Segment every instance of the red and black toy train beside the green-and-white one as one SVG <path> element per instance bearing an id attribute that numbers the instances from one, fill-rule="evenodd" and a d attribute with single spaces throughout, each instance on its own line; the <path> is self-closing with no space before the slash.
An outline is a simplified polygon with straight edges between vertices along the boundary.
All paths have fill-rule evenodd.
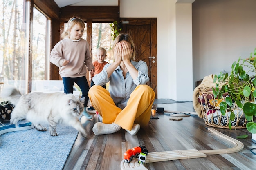
<path id="1" fill-rule="evenodd" d="M 141 145 L 141 146 L 136 146 L 132 149 L 128 149 L 124 153 L 124 161 L 129 163 L 130 161 L 132 161 L 132 157 L 138 158 L 140 153 L 144 153 L 148 155 L 148 150 L 146 146 Z"/>

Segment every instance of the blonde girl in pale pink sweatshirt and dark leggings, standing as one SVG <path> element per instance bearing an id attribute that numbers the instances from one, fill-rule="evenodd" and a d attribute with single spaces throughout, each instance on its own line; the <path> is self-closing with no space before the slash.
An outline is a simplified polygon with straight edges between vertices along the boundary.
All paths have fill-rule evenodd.
<path id="1" fill-rule="evenodd" d="M 73 93 L 76 83 L 85 97 L 83 115 L 87 119 L 92 116 L 86 111 L 89 100 L 89 85 L 86 79 L 86 67 L 91 74 L 94 73 L 94 65 L 90 56 L 89 43 L 82 38 L 85 31 L 85 23 L 77 17 L 68 21 L 68 28 L 61 34 L 63 40 L 59 41 L 51 51 L 50 62 L 59 67 L 59 74 L 63 79 L 64 93 Z"/>

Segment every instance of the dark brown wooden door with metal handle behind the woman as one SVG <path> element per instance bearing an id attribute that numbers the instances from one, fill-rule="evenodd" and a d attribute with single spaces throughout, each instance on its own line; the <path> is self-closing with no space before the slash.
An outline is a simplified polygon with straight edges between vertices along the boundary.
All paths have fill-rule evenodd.
<path id="1" fill-rule="evenodd" d="M 135 61 L 148 65 L 149 82 L 157 98 L 157 18 L 121 18 L 121 33 L 129 33 L 135 44 Z"/>

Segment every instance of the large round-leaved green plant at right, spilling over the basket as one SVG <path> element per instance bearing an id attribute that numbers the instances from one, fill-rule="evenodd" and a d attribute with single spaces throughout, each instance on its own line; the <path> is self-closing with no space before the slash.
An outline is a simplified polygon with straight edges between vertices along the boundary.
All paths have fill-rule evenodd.
<path id="1" fill-rule="evenodd" d="M 225 101 L 220 103 L 220 111 L 223 116 L 226 115 L 227 109 L 237 106 L 245 114 L 247 120 L 246 128 L 254 136 L 256 135 L 256 49 L 250 54 L 249 58 L 241 59 L 234 62 L 231 66 L 231 73 L 215 75 L 213 82 L 216 87 L 213 88 L 215 98 L 222 98 L 224 93 L 228 93 Z M 222 86 L 220 85 L 222 84 Z M 225 85 L 223 85 L 225 84 Z M 231 121 L 234 120 L 235 114 L 231 111 L 229 119 L 229 128 Z M 255 136 L 256 137 L 256 136 Z M 253 138 L 253 137 L 252 137 Z M 256 142 L 256 139 L 253 139 Z"/>

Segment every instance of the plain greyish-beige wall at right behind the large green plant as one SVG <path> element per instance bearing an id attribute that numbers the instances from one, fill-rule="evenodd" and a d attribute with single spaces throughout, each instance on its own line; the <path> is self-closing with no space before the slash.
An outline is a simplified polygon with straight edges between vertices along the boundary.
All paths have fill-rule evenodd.
<path id="1" fill-rule="evenodd" d="M 256 47 L 256 0 L 196 0 L 193 16 L 193 82 L 247 58 Z"/>

